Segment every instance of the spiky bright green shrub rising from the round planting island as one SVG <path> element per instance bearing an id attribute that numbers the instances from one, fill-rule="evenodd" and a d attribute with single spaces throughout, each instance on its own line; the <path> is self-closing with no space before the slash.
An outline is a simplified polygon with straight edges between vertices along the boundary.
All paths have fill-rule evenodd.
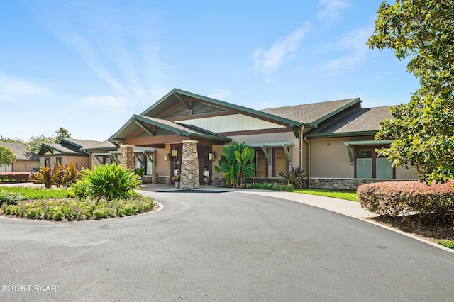
<path id="1" fill-rule="evenodd" d="M 85 186 L 88 196 L 112 200 L 135 196 L 136 193 L 133 189 L 136 189 L 139 184 L 138 175 L 126 167 L 114 163 L 95 166 L 92 170 L 84 170 L 76 186 Z M 77 190 L 83 192 L 82 187 Z"/>

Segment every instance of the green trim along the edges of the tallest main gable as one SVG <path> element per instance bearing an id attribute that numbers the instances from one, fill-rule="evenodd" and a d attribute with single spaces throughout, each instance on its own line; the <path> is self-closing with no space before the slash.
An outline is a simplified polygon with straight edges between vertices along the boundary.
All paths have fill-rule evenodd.
<path id="1" fill-rule="evenodd" d="M 262 111 L 258 111 L 258 110 L 255 110 L 255 109 L 251 109 L 251 108 L 240 106 L 240 105 L 236 105 L 236 104 L 231 104 L 231 103 L 228 103 L 226 101 L 220 101 L 218 99 L 212 99 L 212 98 L 210 98 L 208 96 L 201 96 L 200 94 L 194 94 L 192 92 L 184 91 L 184 90 L 176 89 L 176 88 L 172 89 L 172 91 L 170 91 L 168 94 L 163 96 L 159 101 L 157 101 L 155 104 L 153 104 L 148 109 L 143 111 L 143 113 L 141 113 L 140 115 L 141 116 L 145 116 L 147 113 L 152 111 L 153 108 L 155 108 L 156 106 L 161 104 L 163 101 L 165 101 L 165 99 L 167 99 L 172 94 L 175 94 L 175 96 L 177 96 L 177 94 L 182 94 L 184 96 L 189 96 L 189 97 L 192 97 L 194 99 L 200 99 L 201 101 L 207 101 L 207 102 L 210 102 L 210 103 L 213 103 L 213 104 L 216 104 L 216 105 L 220 105 L 220 106 L 224 106 L 224 107 L 227 107 L 227 108 L 233 108 L 233 109 L 236 109 L 238 111 L 244 111 L 246 113 L 250 113 L 250 114 L 253 114 L 255 116 L 261 116 L 263 118 L 270 118 L 272 120 L 279 121 L 280 123 L 289 124 L 290 127 L 292 127 L 292 125 L 293 125 L 293 126 L 301 128 L 301 126 L 304 125 L 303 123 L 300 123 L 298 121 L 289 120 L 288 118 L 282 118 L 280 116 L 275 116 L 274 114 L 265 113 L 265 112 L 262 112 Z M 179 99 L 178 96 L 177 96 L 177 99 Z"/>

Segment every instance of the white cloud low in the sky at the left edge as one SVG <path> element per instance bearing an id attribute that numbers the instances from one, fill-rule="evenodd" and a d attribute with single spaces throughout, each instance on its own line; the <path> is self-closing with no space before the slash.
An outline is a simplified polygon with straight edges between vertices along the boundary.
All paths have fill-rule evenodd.
<path id="1" fill-rule="evenodd" d="M 46 94 L 49 94 L 49 91 L 38 84 L 0 74 L 0 102 L 21 101 L 31 96 L 43 96 Z"/>

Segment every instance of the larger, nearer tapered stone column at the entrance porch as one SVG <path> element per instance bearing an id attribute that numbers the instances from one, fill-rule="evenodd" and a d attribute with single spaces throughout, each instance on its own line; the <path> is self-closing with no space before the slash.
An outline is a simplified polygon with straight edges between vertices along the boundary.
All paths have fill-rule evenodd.
<path id="1" fill-rule="evenodd" d="M 196 140 L 183 140 L 182 175 L 179 186 L 182 189 L 200 188 L 199 152 Z"/>

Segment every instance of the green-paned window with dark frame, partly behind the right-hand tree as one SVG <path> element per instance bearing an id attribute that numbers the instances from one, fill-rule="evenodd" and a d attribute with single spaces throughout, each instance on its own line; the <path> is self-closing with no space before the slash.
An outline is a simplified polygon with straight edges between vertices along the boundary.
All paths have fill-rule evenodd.
<path id="1" fill-rule="evenodd" d="M 381 157 L 374 147 L 356 147 L 355 149 L 355 177 L 394 179 L 395 169 L 387 157 Z"/>

